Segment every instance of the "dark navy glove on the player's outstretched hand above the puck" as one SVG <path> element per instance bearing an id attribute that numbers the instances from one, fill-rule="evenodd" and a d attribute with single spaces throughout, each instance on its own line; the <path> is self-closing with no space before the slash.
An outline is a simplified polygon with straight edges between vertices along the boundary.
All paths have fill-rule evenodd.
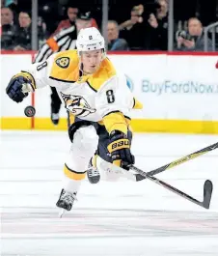
<path id="1" fill-rule="evenodd" d="M 28 93 L 22 92 L 25 84 L 31 84 L 31 80 L 22 75 L 13 77 L 6 88 L 6 93 L 9 98 L 18 103 L 21 102 L 25 97 L 27 97 Z"/>

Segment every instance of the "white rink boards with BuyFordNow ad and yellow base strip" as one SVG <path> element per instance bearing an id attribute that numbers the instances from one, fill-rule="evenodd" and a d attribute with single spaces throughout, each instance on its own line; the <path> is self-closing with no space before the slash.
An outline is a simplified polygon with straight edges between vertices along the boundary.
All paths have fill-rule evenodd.
<path id="1" fill-rule="evenodd" d="M 16 104 L 8 99 L 5 87 L 12 75 L 31 63 L 33 52 L 1 55 L 1 123 L 3 129 L 67 129 L 67 114 L 61 122 L 50 122 L 50 88 Z M 116 52 L 110 54 L 114 65 L 123 71 L 127 86 L 144 104 L 131 113 L 132 127 L 139 132 L 179 132 L 218 134 L 218 60 L 217 53 Z M 35 118 L 28 119 L 26 105 L 36 107 Z"/>

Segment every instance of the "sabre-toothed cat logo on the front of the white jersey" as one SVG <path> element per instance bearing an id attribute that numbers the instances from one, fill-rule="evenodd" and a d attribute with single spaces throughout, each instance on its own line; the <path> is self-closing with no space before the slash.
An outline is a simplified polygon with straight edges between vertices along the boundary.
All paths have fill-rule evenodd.
<path id="1" fill-rule="evenodd" d="M 65 95 L 63 93 L 61 93 L 61 96 L 65 101 L 66 109 L 74 116 L 86 117 L 96 111 L 96 109 L 91 108 L 89 103 L 81 96 Z"/>

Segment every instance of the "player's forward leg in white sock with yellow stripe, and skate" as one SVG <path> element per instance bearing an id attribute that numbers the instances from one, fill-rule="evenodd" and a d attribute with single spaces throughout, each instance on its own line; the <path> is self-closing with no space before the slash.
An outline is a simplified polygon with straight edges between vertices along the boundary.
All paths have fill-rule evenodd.
<path id="1" fill-rule="evenodd" d="M 86 177 L 90 158 L 95 154 L 98 136 L 95 128 L 87 121 L 75 122 L 68 133 L 72 144 L 64 166 L 63 189 L 56 205 L 70 211 Z"/>

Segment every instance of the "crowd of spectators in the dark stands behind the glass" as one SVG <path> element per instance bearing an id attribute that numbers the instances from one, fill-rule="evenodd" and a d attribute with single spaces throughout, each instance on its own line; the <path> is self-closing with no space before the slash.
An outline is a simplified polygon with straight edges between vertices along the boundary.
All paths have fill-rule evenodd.
<path id="1" fill-rule="evenodd" d="M 12 8 L 17 1 L 2 1 L 1 7 L 1 49 L 2 50 L 31 50 L 31 14 L 29 11 L 18 11 Z M 87 18 L 89 13 L 89 18 Z M 44 43 L 52 41 L 59 33 L 75 27 L 76 35 L 79 30 L 87 26 L 101 28 L 91 12 L 81 13 L 79 8 L 68 5 L 68 18 L 61 20 L 52 33 L 47 29 L 46 22 L 39 16 L 38 39 L 39 49 Z M 85 15 L 83 17 L 83 15 Z M 110 16 L 109 16 L 110 18 Z M 177 29 L 177 26 L 175 26 Z M 168 0 L 157 0 L 150 6 L 140 4 L 133 6 L 129 19 L 122 23 L 108 20 L 107 24 L 108 50 L 167 50 L 168 49 Z M 74 35 L 73 35 L 74 40 Z M 208 50 L 212 50 L 212 43 L 207 39 Z M 60 49 L 59 49 L 60 50 Z M 186 26 L 175 31 L 175 50 L 203 51 L 204 27 L 197 17 L 190 17 Z"/>

